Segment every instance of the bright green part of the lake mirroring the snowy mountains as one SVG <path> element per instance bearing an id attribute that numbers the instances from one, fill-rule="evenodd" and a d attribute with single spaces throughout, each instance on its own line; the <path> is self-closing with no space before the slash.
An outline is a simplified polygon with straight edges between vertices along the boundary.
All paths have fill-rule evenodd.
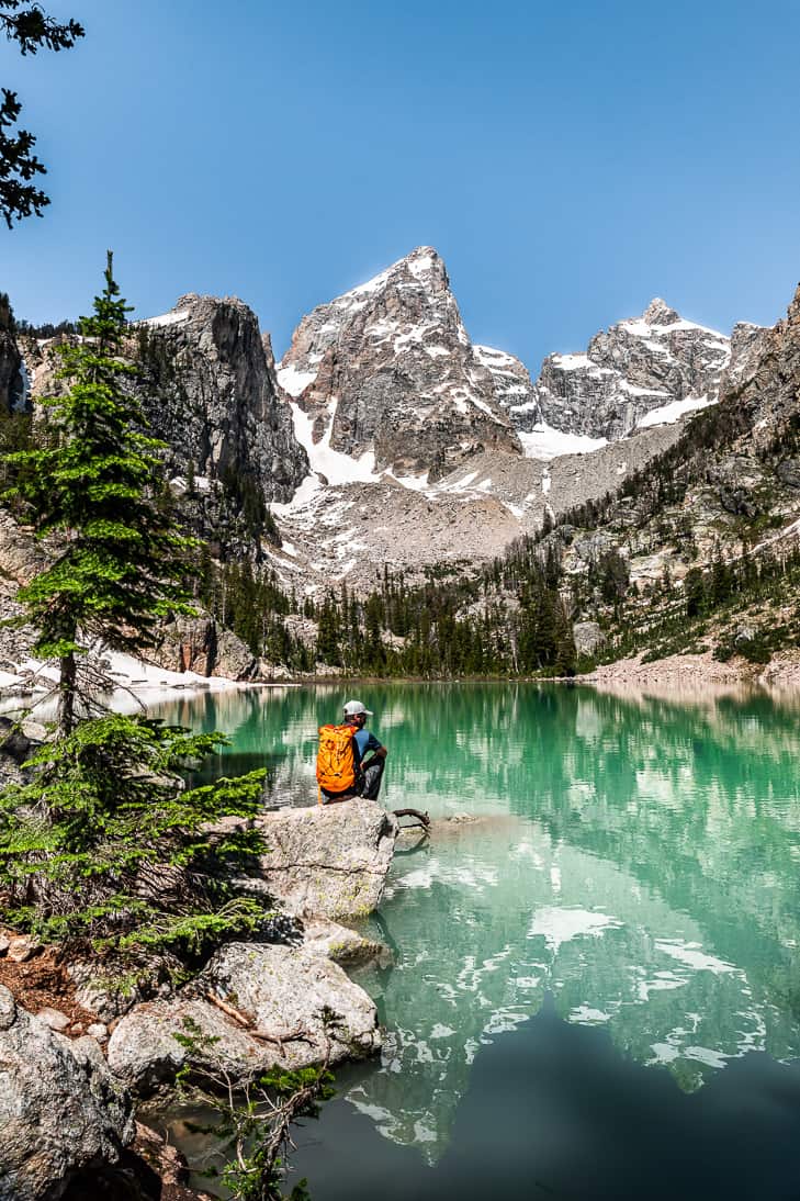
<path id="1" fill-rule="evenodd" d="M 626 1071 L 643 1069 L 637 1087 L 667 1089 L 680 1113 L 705 1112 L 709 1098 L 722 1106 L 766 1056 L 800 1056 L 796 703 L 536 685 L 357 694 L 389 747 L 384 803 L 426 808 L 435 826 L 428 846 L 395 856 L 365 924 L 394 949 L 390 967 L 356 976 L 386 1045 L 380 1062 L 342 1075 L 348 1116 L 338 1101 L 323 1127 L 352 1134 L 363 1121 L 383 1135 L 387 1164 L 399 1143 L 410 1161 L 441 1165 L 465 1098 L 479 1104 L 478 1065 L 529 1029 L 548 994 L 575 1038 L 602 1029 L 609 1056 L 614 1046 Z M 268 802 L 309 803 L 317 725 L 344 699 L 329 686 L 205 694 L 161 712 L 231 731 L 214 771 L 267 763 Z M 449 820 L 465 811 L 480 820 Z M 557 1029 L 562 1045 L 569 1032 Z M 579 1074 L 571 1080 L 578 1104 Z M 675 1098 L 675 1086 L 692 1095 Z M 486 1104 L 488 1125 L 498 1104 Z M 515 1129 L 526 1157 L 529 1134 Z M 360 1147 L 359 1135 L 346 1154 Z"/>

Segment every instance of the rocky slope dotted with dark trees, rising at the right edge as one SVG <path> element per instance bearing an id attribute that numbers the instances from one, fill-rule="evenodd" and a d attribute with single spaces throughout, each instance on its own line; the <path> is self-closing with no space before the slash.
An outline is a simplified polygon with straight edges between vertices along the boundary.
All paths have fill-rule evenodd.
<path id="1" fill-rule="evenodd" d="M 626 621 L 650 659 L 697 644 L 698 653 L 722 649 L 728 662 L 750 646 L 762 656 L 751 663 L 763 665 L 770 650 L 796 647 L 799 539 L 800 288 L 775 327 L 736 325 L 718 405 L 677 428 L 671 446 L 651 458 L 627 495 L 601 506 L 590 528 L 562 526 L 545 543 L 573 580 L 586 581 L 583 619 L 614 629 L 609 596 L 616 604 L 622 593 L 609 573 L 637 586 L 627 593 Z M 602 597 L 592 579 L 604 573 L 610 592 Z M 683 610 L 687 620 L 676 625 Z M 659 640 L 652 631 L 670 615 Z"/>

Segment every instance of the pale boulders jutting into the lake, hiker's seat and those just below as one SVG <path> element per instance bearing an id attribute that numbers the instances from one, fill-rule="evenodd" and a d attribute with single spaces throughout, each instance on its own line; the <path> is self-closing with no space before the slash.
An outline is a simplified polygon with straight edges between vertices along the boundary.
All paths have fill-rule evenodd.
<path id="1" fill-rule="evenodd" d="M 233 943 L 173 996 L 125 1014 L 112 1033 L 108 1063 L 141 1095 L 174 1080 L 186 1057 L 175 1034 L 184 1034 L 186 1023 L 217 1040 L 214 1056 L 238 1080 L 276 1064 L 320 1063 L 328 1039 L 332 1063 L 370 1056 L 381 1046 L 372 1000 L 339 963 L 360 962 L 383 949 L 329 918 L 363 915 L 377 906 L 396 820 L 372 801 L 352 801 L 267 813 L 259 825 L 271 850 L 259 873 L 240 883 L 281 900 L 288 914 L 310 916 L 291 924 L 292 945 Z M 231 1008 L 246 1018 L 246 1027 Z M 326 1009 L 339 1017 L 329 1030 Z"/>

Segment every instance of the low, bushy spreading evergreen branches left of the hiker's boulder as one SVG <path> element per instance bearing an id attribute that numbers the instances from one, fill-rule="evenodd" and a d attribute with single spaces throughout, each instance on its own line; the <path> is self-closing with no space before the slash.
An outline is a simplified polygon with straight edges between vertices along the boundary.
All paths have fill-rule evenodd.
<path id="1" fill-rule="evenodd" d="M 237 892 L 229 867 L 263 838 L 243 826 L 214 839 L 207 827 L 252 818 L 264 772 L 201 788 L 180 775 L 223 742 L 109 715 L 42 747 L 31 782 L 0 794 L 4 922 L 135 960 L 150 949 L 192 958 L 257 930 L 264 907 Z"/>

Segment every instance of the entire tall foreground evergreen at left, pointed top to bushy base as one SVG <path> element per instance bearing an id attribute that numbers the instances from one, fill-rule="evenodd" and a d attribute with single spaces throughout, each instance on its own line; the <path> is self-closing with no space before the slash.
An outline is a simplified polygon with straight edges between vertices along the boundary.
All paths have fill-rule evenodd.
<path id="1" fill-rule="evenodd" d="M 77 668 L 91 640 L 136 651 L 162 614 L 187 610 L 187 543 L 151 498 L 162 444 L 137 432 L 124 388 L 125 311 L 109 255 L 94 316 L 61 348 L 71 387 L 46 401 L 38 447 L 10 456 L 12 495 L 60 548 L 18 593 L 38 628 L 35 651 L 59 659 L 60 703 L 55 743 L 31 760 L 28 783 L 0 793 L 0 902 L 16 930 L 137 964 L 168 950 L 191 968 L 265 916 L 232 872 L 265 849 L 262 837 L 245 826 L 209 832 L 223 815 L 256 814 L 264 772 L 187 788 L 187 764 L 221 735 L 119 715 L 79 721 Z"/>

